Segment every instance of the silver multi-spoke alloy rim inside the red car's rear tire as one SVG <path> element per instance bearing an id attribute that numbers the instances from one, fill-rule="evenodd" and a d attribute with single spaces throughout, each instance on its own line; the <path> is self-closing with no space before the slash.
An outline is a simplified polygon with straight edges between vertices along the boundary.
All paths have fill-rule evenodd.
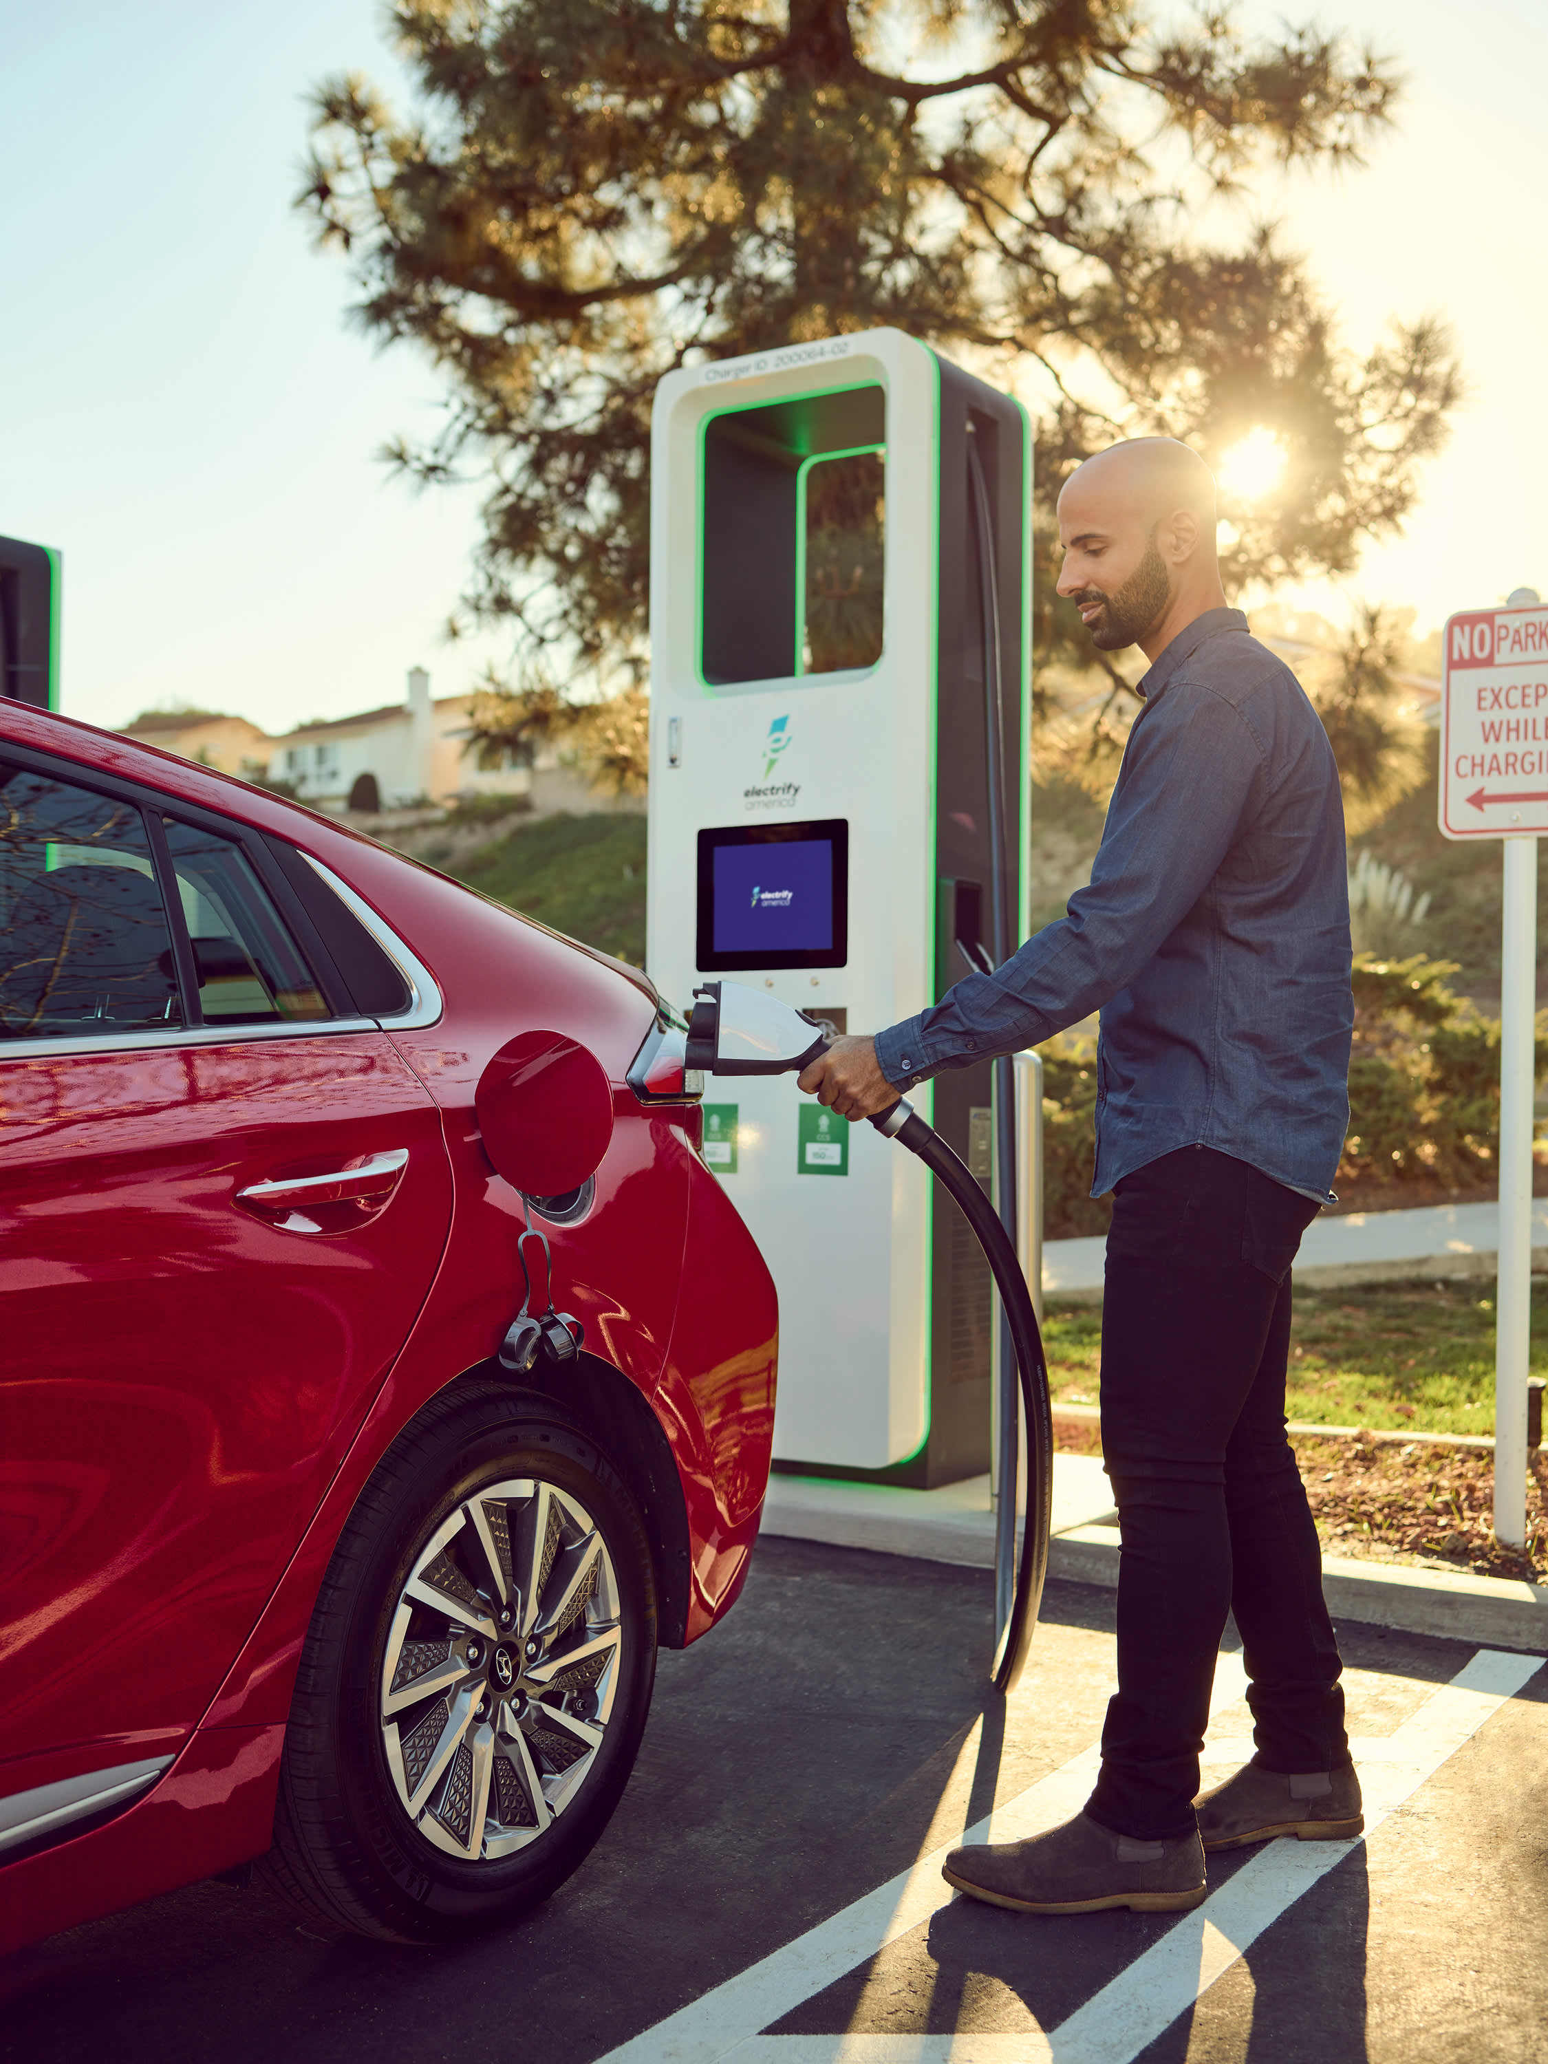
<path id="1" fill-rule="evenodd" d="M 398 1804 L 462 1862 L 537 1841 L 596 1765 L 619 1587 L 584 1505 L 543 1478 L 477 1490 L 415 1550 L 382 1657 Z"/>

